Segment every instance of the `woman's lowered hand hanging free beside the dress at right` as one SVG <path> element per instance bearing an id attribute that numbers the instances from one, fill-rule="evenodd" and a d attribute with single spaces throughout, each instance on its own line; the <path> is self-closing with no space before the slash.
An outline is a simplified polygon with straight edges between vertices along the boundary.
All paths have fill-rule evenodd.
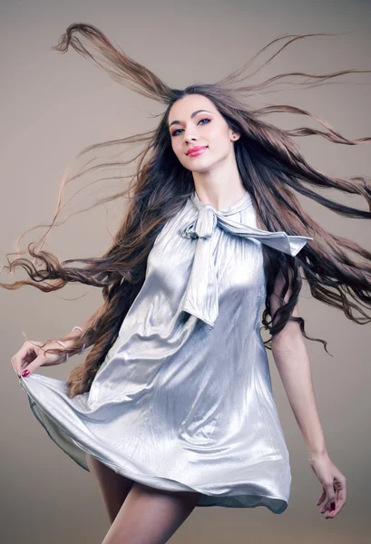
<path id="1" fill-rule="evenodd" d="M 317 479 L 322 483 L 322 493 L 317 500 L 317 506 L 326 500 L 319 511 L 321 514 L 327 512 L 327 519 L 335 518 L 347 501 L 346 477 L 338 470 L 327 453 L 310 455 L 309 464 Z M 333 510 L 331 504 L 334 506 Z"/>

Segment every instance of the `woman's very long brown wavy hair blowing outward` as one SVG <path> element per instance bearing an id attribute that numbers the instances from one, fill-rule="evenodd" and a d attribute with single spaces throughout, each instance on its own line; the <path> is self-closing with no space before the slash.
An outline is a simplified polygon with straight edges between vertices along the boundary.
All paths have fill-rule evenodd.
<path id="1" fill-rule="evenodd" d="M 80 37 L 79 37 L 80 34 Z M 262 315 L 262 325 L 270 333 L 264 344 L 271 349 L 271 339 L 288 323 L 294 320 L 299 323 L 302 335 L 310 340 L 304 328 L 302 317 L 292 316 L 294 306 L 298 302 L 302 287 L 303 272 L 308 281 L 312 296 L 327 305 L 343 310 L 348 319 L 357 324 L 371 321 L 366 309 L 371 306 L 371 253 L 356 242 L 336 236 L 321 228 L 309 217 L 300 206 L 296 192 L 317 201 L 327 209 L 348 218 L 371 219 L 371 183 L 370 178 L 353 177 L 350 179 L 334 178 L 315 169 L 308 164 L 299 151 L 293 137 L 317 135 L 328 141 L 343 145 L 358 145 L 371 141 L 371 138 L 347 140 L 327 121 L 310 112 L 290 105 L 268 105 L 252 110 L 248 108 L 239 95 L 276 92 L 278 83 L 288 83 L 294 77 L 296 84 L 302 88 L 310 88 L 326 84 L 327 80 L 346 73 L 369 73 L 370 70 L 344 70 L 337 73 L 321 75 L 292 72 L 281 73 L 260 83 L 250 83 L 251 77 L 271 63 L 273 59 L 288 45 L 308 36 L 331 34 L 283 35 L 263 47 L 248 63 L 217 83 L 193 84 L 184 90 L 172 89 L 159 77 L 142 64 L 115 47 L 107 37 L 92 24 L 71 24 L 62 34 L 57 45 L 53 47 L 66 53 L 71 45 L 75 51 L 90 58 L 112 79 L 122 83 L 143 96 L 165 104 L 165 112 L 155 130 L 135 134 L 115 141 L 106 141 L 85 148 L 77 158 L 100 148 L 109 149 L 139 143 L 142 151 L 132 160 L 112 162 L 114 167 L 126 167 L 133 160 L 138 160 L 131 181 L 123 189 L 104 201 L 124 198 L 128 204 L 123 213 L 122 223 L 113 237 L 112 246 L 102 257 L 68 259 L 60 262 L 52 253 L 42 250 L 44 238 L 54 226 L 62 209 L 62 195 L 67 183 L 77 179 L 69 175 L 63 176 L 58 195 L 54 219 L 44 237 L 28 245 L 28 252 L 33 260 L 18 257 L 13 262 L 8 260 L 9 271 L 15 267 L 23 267 L 30 280 L 15 281 L 13 284 L 0 284 L 7 289 L 18 289 L 24 285 L 37 287 L 44 292 L 61 289 L 69 282 L 79 282 L 93 287 L 102 287 L 103 305 L 93 315 L 90 325 L 83 335 L 76 340 L 73 348 L 64 352 L 76 353 L 89 339 L 92 351 L 86 356 L 83 364 L 76 366 L 67 378 L 67 393 L 70 398 L 76 394 L 90 390 L 94 375 L 97 373 L 113 342 L 116 340 L 122 321 L 132 302 L 141 290 L 144 282 L 147 257 L 155 238 L 164 224 L 177 214 L 185 205 L 191 192 L 195 189 L 192 173 L 185 169 L 171 149 L 171 137 L 168 128 L 168 116 L 174 102 L 188 94 L 201 94 L 208 97 L 223 116 L 229 127 L 240 133 L 234 142 L 234 150 L 242 183 L 249 191 L 252 203 L 257 212 L 259 228 L 270 231 L 285 231 L 288 235 L 308 236 L 313 238 L 296 257 L 268 248 L 264 244 L 264 269 L 267 282 L 267 297 Z M 91 53 L 87 45 L 95 48 Z M 251 63 L 260 53 L 275 47 L 268 61 L 254 72 L 247 73 Z M 99 54 L 101 53 L 101 58 Z M 269 53 L 270 54 L 270 53 Z M 306 78 L 306 79 L 304 79 Z M 249 79 L 249 84 L 244 82 Z M 309 83 L 308 83 L 309 82 Z M 245 83 L 239 86 L 239 83 Z M 263 121 L 269 113 L 293 113 L 305 115 L 317 121 L 321 129 L 301 127 L 294 130 L 283 130 Z M 88 163 L 89 164 L 89 163 Z M 103 163 L 89 170 L 106 168 Z M 122 183 L 123 177 L 119 177 Z M 122 184 L 123 185 L 123 184 Z M 316 192 L 316 188 L 331 188 L 349 194 L 364 197 L 367 211 L 352 208 L 325 198 Z M 98 202 L 99 204 L 100 202 Z M 38 226 L 39 227 L 39 226 Z M 27 231 L 26 231 L 27 232 Z M 25 234 L 25 233 L 24 233 Z M 19 240 L 24 236 L 18 238 Z M 364 260 L 353 260 L 347 250 L 353 251 Z M 18 249 L 18 255 L 24 253 Z M 6 257 L 14 254 L 7 254 Z M 74 263 L 74 266 L 71 266 Z M 269 297 L 275 288 L 278 272 L 284 281 L 279 293 L 280 307 L 271 316 Z M 285 303 L 285 295 L 289 293 Z M 354 310 L 360 313 L 355 316 Z M 273 321 L 274 318 L 274 321 Z M 59 353 L 59 348 L 48 349 L 50 353 Z M 327 350 L 326 350 L 327 351 Z M 328 352 L 327 352 L 328 353 Z"/>

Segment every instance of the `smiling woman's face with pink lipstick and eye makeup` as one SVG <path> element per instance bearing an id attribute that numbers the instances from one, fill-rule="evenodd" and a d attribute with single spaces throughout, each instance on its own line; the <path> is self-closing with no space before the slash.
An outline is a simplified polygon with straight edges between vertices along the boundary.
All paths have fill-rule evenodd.
<path id="1" fill-rule="evenodd" d="M 171 146 L 181 164 L 191 171 L 207 171 L 230 153 L 239 134 L 229 128 L 213 102 L 201 94 L 188 94 L 171 107 L 169 113 Z M 195 147 L 200 154 L 187 154 Z"/>

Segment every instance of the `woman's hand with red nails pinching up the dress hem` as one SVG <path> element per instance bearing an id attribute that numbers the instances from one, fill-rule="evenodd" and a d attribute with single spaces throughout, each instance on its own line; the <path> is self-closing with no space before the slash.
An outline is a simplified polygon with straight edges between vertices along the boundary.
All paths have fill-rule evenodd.
<path id="1" fill-rule="evenodd" d="M 44 342 L 26 340 L 21 349 L 11 359 L 18 378 L 21 377 L 21 374 L 24 377 L 32 374 L 39 366 L 54 366 L 64 363 L 66 355 L 63 352 L 59 354 L 44 353 L 44 350 L 52 347 L 62 349 L 63 346 L 56 341 L 49 341 L 44 344 Z M 23 373 L 26 370 L 29 372 L 24 375 Z"/>

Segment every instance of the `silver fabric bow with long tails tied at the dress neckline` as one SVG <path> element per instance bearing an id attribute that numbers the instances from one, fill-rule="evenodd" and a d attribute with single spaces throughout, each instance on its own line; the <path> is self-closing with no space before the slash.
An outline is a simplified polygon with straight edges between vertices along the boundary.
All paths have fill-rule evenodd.
<path id="1" fill-rule="evenodd" d="M 261 230 L 228 219 L 228 216 L 252 205 L 249 192 L 238 205 L 226 210 L 217 210 L 203 204 L 196 191 L 190 195 L 197 209 L 196 215 L 179 230 L 184 238 L 197 238 L 190 278 L 181 300 L 181 310 L 198 317 L 212 328 L 219 314 L 218 282 L 212 257 L 211 237 L 217 225 L 223 230 L 242 238 L 254 238 L 270 248 L 295 256 L 308 240 L 307 236 L 288 236 L 286 232 Z"/>

